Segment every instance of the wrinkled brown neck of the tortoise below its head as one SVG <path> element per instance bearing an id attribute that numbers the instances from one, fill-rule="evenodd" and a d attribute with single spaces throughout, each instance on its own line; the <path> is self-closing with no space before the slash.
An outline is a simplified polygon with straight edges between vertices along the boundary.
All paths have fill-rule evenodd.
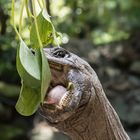
<path id="1" fill-rule="evenodd" d="M 104 92 L 95 93 L 60 130 L 72 140 L 130 140 Z"/>

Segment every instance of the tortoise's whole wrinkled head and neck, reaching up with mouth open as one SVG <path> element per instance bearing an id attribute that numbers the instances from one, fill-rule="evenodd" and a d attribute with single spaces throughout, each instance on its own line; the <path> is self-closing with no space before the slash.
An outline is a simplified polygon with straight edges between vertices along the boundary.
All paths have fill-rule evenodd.
<path id="1" fill-rule="evenodd" d="M 129 140 L 90 65 L 63 48 L 44 52 L 52 73 L 40 111 L 47 122 L 73 140 Z"/>

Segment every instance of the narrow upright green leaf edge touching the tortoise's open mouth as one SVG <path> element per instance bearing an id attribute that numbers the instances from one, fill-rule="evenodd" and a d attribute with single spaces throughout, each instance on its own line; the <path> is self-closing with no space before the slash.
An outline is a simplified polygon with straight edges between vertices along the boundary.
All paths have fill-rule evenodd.
<path id="1" fill-rule="evenodd" d="M 46 91 L 49 87 L 51 81 L 51 72 L 49 68 L 49 64 L 43 48 L 40 48 L 41 59 L 42 59 L 42 73 L 41 73 L 41 102 L 43 102 L 44 97 L 46 95 Z"/>

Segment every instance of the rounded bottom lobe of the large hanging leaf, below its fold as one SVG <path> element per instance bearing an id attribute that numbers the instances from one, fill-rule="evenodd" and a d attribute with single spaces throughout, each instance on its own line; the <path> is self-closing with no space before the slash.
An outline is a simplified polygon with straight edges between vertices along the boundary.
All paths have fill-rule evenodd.
<path id="1" fill-rule="evenodd" d="M 28 87 L 22 83 L 19 99 L 16 103 L 16 110 L 24 116 L 30 116 L 40 105 L 40 91 Z"/>

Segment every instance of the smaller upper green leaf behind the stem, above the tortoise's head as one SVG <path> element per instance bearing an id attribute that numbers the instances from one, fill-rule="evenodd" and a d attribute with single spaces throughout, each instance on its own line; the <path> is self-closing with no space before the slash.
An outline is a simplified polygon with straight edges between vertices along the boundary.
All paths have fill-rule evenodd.
<path id="1" fill-rule="evenodd" d="M 45 10 L 41 11 L 37 16 L 37 25 L 39 30 L 39 35 L 43 46 L 48 45 L 53 42 L 54 39 L 54 28 L 50 21 L 50 17 Z M 30 41 L 33 48 L 39 46 L 37 33 L 35 29 L 35 23 L 32 24 L 30 30 Z"/>

